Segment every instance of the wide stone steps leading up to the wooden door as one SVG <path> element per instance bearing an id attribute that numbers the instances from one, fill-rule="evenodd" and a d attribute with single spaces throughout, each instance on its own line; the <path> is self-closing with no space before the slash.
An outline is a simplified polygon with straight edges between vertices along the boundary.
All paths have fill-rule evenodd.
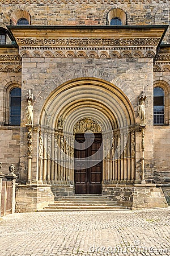
<path id="1" fill-rule="evenodd" d="M 62 212 L 83 210 L 125 210 L 121 204 L 113 201 L 107 196 L 101 195 L 76 195 L 72 197 L 61 197 L 53 204 L 39 210 L 39 212 Z"/>

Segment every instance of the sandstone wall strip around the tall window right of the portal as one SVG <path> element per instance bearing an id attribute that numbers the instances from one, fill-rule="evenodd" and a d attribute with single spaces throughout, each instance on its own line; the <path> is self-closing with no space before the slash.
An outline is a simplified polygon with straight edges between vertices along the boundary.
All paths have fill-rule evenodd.
<path id="1" fill-rule="evenodd" d="M 160 60 L 165 56 L 165 60 Z M 154 126 L 154 169 L 155 180 L 158 183 L 169 183 L 170 170 L 169 170 L 169 146 L 170 146 L 170 133 L 169 133 L 169 120 L 170 120 L 170 69 L 169 69 L 169 49 L 162 48 L 160 55 L 155 62 L 154 72 L 154 86 L 161 86 L 164 89 L 165 101 L 165 125 Z M 158 69 L 157 69 L 157 68 Z"/>

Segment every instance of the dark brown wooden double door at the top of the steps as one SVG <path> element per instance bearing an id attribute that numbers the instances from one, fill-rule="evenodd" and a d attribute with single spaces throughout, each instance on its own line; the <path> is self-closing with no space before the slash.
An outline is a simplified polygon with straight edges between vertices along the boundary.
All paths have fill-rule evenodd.
<path id="1" fill-rule="evenodd" d="M 76 194 L 101 194 L 102 135 L 75 134 L 74 182 Z"/>

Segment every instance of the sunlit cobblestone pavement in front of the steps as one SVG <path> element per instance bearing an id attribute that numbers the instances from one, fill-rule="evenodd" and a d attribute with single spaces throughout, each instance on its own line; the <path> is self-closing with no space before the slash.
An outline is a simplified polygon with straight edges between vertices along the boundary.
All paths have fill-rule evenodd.
<path id="1" fill-rule="evenodd" d="M 15 213 L 0 218 L 0 256 L 170 255 L 170 208 Z"/>

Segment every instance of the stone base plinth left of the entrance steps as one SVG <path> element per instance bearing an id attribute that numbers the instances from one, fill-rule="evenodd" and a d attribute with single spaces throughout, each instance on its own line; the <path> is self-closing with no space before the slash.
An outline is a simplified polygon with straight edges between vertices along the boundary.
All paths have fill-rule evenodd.
<path id="1" fill-rule="evenodd" d="M 16 189 L 16 212 L 33 212 L 48 204 L 54 203 L 59 197 L 73 196 L 74 185 L 18 185 Z"/>

